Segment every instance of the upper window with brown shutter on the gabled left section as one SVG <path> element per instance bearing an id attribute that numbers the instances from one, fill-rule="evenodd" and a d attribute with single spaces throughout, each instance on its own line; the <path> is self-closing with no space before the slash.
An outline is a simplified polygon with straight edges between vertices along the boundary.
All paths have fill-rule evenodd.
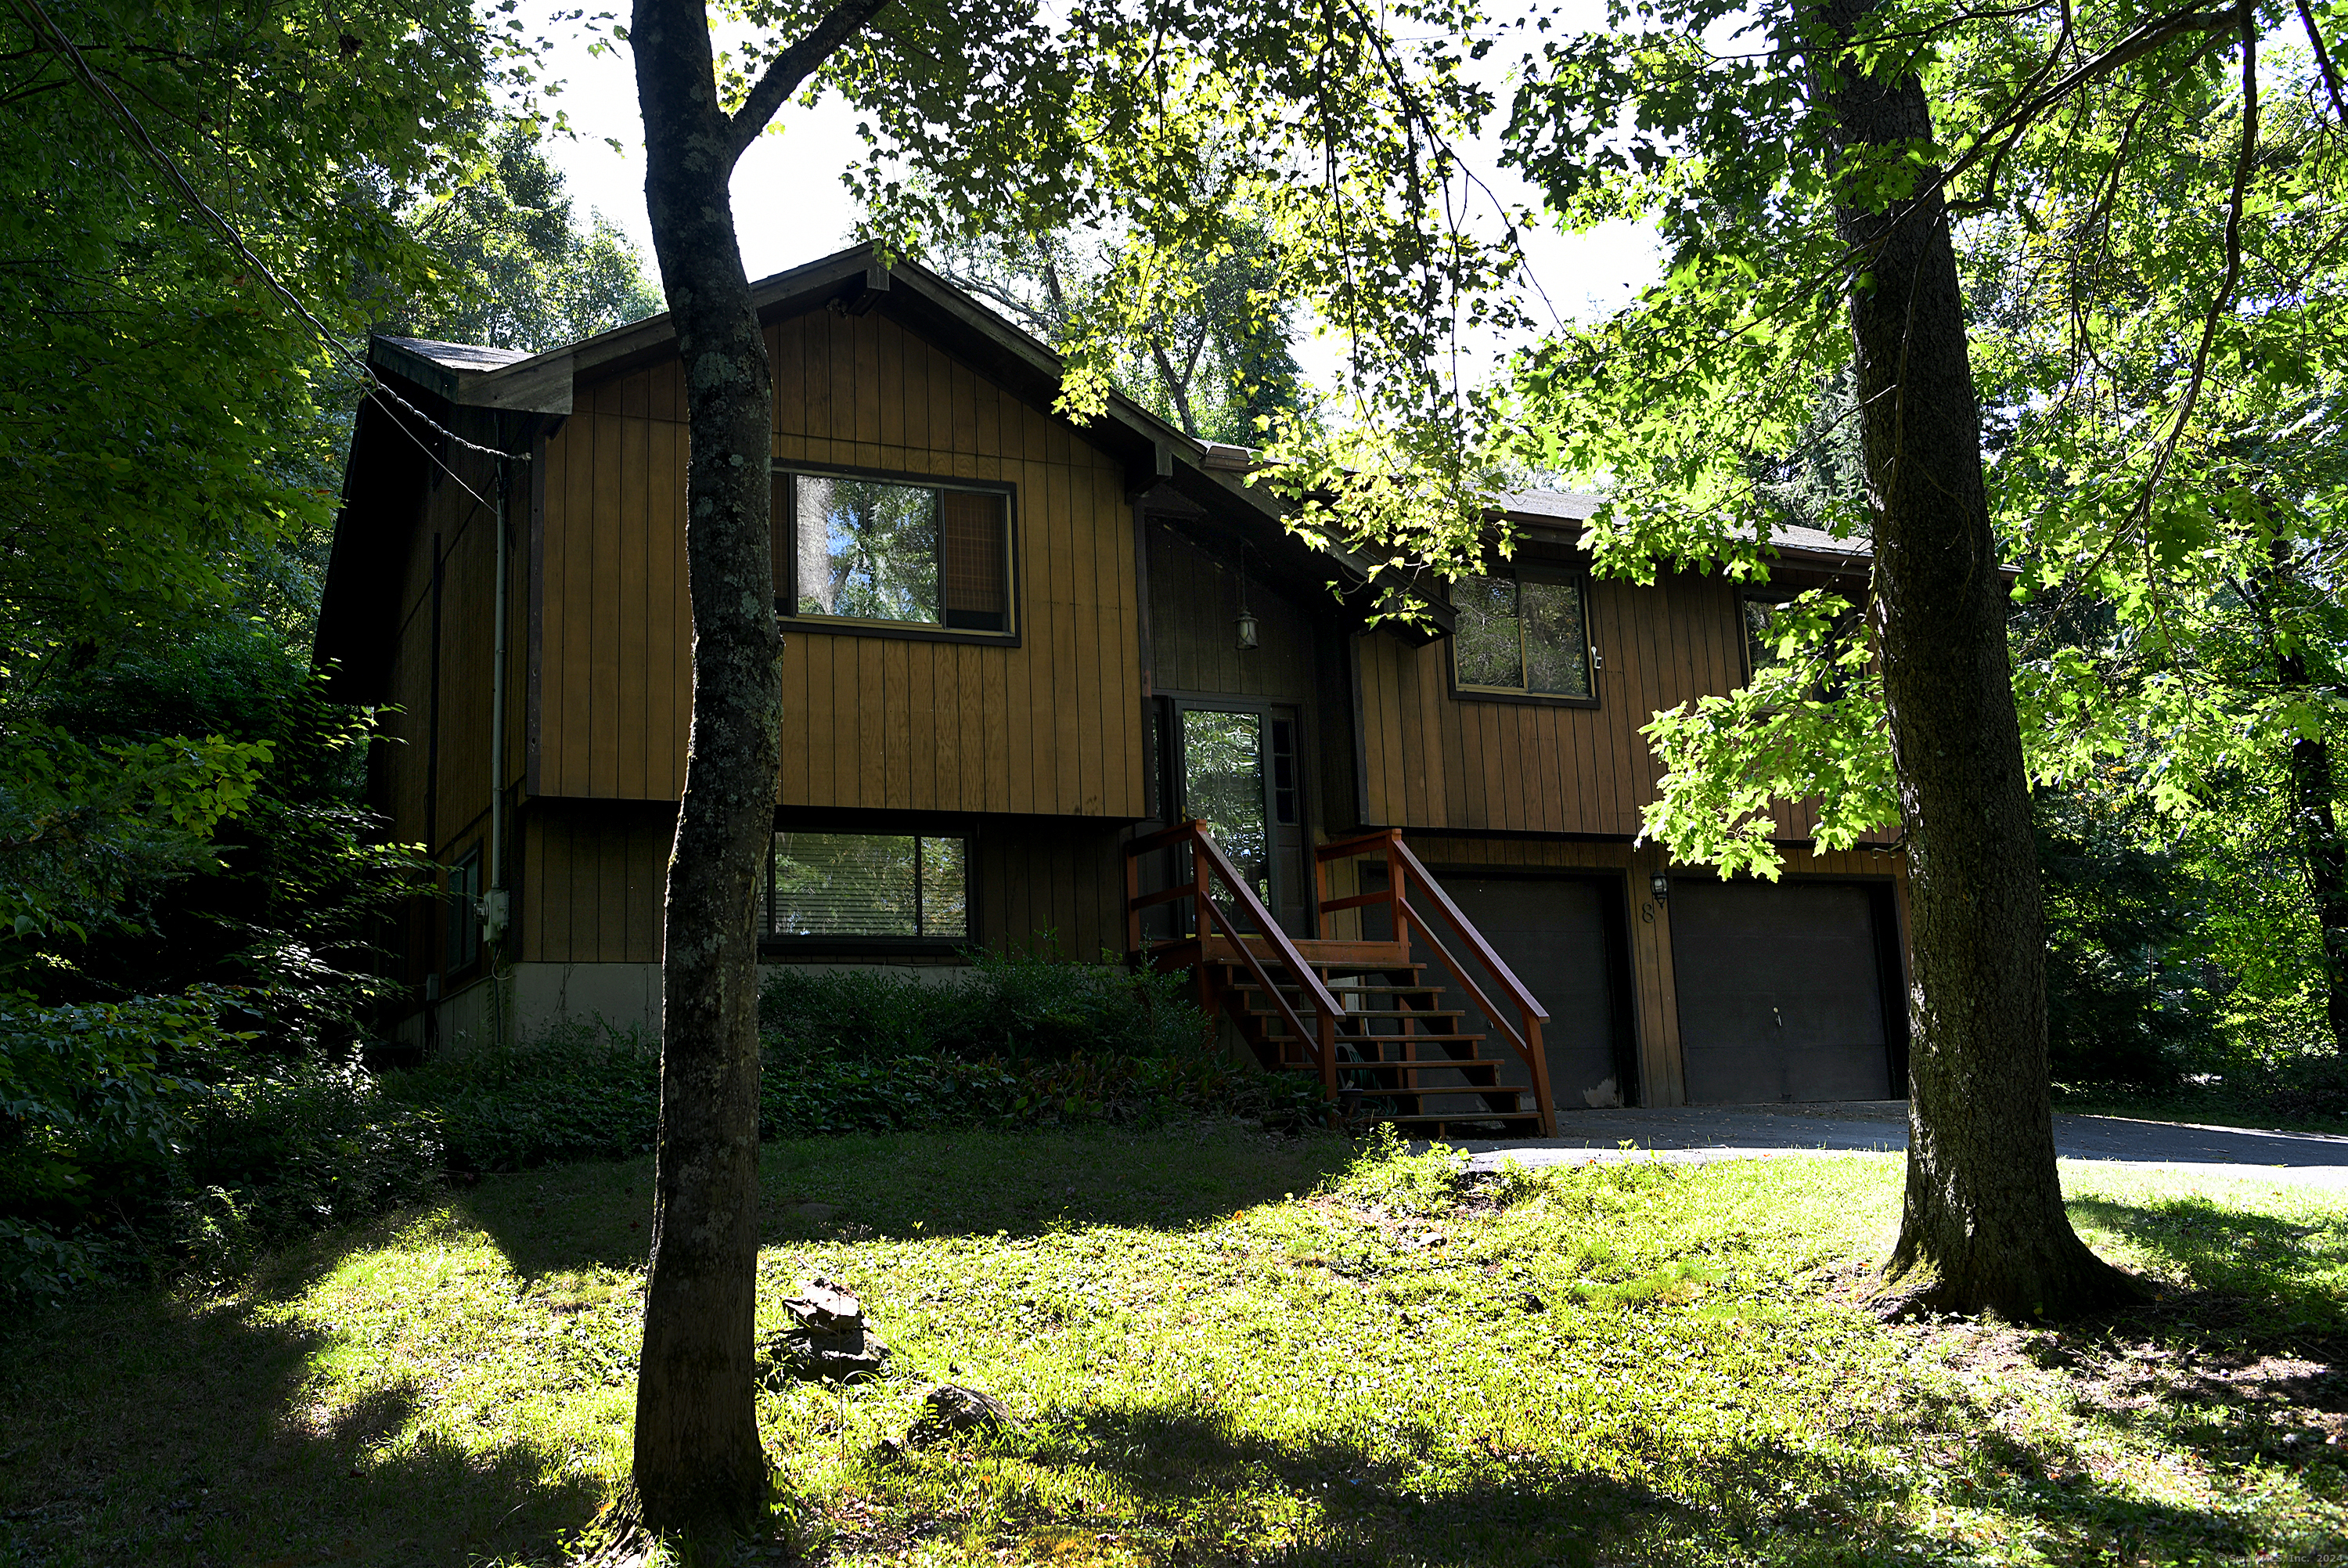
<path id="1" fill-rule="evenodd" d="M 775 474 L 775 608 L 787 615 L 1012 629 L 1000 491 Z"/>

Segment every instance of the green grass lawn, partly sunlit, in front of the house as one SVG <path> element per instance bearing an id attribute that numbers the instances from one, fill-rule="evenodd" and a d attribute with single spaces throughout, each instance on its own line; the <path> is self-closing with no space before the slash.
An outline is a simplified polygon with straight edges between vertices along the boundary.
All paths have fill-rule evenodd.
<path id="1" fill-rule="evenodd" d="M 765 1314 L 822 1272 L 895 1345 L 761 1397 L 817 1561 L 2348 1561 L 2348 1211 L 2306 1188 L 2069 1169 L 2179 1291 L 2054 1333 L 1862 1310 L 1881 1157 L 1460 1185 L 1214 1127 L 765 1171 Z M 646 1164 L 564 1167 L 7 1326 L 0 1566 L 559 1559 L 625 1474 L 646 1218 Z M 1019 1432 L 883 1446 L 946 1378 Z"/>

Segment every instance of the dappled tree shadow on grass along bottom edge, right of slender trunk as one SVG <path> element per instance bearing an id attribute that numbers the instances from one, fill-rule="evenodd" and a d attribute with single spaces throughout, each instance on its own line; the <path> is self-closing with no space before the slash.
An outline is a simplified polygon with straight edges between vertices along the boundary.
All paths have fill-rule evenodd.
<path id="1" fill-rule="evenodd" d="M 1975 1491 L 1975 1507 L 2040 1542 L 2064 1542 L 2057 1561 L 2137 1561 L 2099 1556 L 2123 1540 L 2148 1549 L 2252 1549 L 2252 1533 L 2233 1514 L 2137 1502 L 2097 1481 L 2076 1455 L 2031 1451 L 1986 1422 L 1968 1441 L 1975 1448 L 1965 1465 L 1996 1479 Z M 1439 1481 L 1397 1458 L 1444 1448 L 1456 1458 Z M 1275 1441 L 1214 1408 L 1174 1404 L 1082 1411 L 1028 1458 L 1071 1476 L 1089 1472 L 1132 1498 L 1134 1512 L 1181 1542 L 1179 1563 L 1860 1563 L 1935 1561 L 1963 1549 L 1900 1516 L 1918 1479 L 1914 1467 L 1827 1458 L 1777 1439 L 1698 1453 L 1662 1441 L 1641 1453 L 1634 1439 L 1608 1448 L 1604 1467 L 1576 1469 L 1496 1444 L 1460 1453 L 1453 1434 L 1428 1427 L 1383 1432 L 1374 1446 L 1343 1432 Z M 1270 1554 L 1266 1516 L 1301 1521 Z"/>

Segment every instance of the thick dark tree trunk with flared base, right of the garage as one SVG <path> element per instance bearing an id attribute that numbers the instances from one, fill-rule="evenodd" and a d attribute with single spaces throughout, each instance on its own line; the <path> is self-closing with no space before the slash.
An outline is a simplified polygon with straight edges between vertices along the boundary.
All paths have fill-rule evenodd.
<path id="1" fill-rule="evenodd" d="M 1874 7 L 1831 0 L 1834 40 Z M 1846 167 L 1930 138 L 1914 75 L 1817 66 Z M 1942 1312 L 2109 1305 L 2134 1282 L 2071 1230 L 2054 1174 L 2031 798 L 1946 209 L 1935 185 L 1883 211 L 1843 204 L 1836 225 L 1871 275 L 1850 336 L 1914 951 L 1907 1207 L 1885 1286 Z"/>

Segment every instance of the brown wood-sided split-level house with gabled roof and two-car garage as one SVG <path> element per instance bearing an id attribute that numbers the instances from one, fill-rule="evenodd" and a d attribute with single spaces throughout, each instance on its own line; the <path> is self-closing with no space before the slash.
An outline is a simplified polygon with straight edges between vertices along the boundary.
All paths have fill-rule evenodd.
<path id="1" fill-rule="evenodd" d="M 1900 1094 L 1890 850 L 1801 847 L 1763 885 L 1637 840 L 1639 725 L 1749 674 L 1733 582 L 1592 580 L 1592 498 L 1529 493 L 1514 561 L 1378 620 L 1244 453 L 1122 401 L 1054 415 L 1054 357 L 918 265 L 852 249 L 754 293 L 775 962 L 1148 951 L 1268 1063 L 1425 1122 Z M 373 800 L 448 894 L 394 932 L 397 1028 L 657 1023 L 690 709 L 669 324 L 531 357 L 376 338 L 371 364 L 397 397 L 359 413 L 317 657 L 387 709 Z M 1780 592 L 1862 573 L 1780 540 Z M 1777 836 L 1810 822 L 1780 807 Z"/>

